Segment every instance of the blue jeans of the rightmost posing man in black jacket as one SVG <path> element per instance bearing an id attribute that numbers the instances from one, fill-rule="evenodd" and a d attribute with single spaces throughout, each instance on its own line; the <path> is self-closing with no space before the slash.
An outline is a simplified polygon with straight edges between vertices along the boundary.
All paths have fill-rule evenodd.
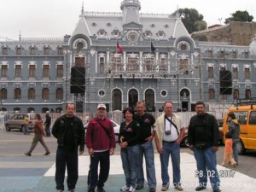
<path id="1" fill-rule="evenodd" d="M 195 174 L 199 177 L 199 186 L 207 187 L 207 177 L 210 177 L 212 189 L 219 188 L 219 178 L 217 171 L 217 160 L 216 152 L 209 147 L 205 150 L 194 149 L 197 173 Z"/>

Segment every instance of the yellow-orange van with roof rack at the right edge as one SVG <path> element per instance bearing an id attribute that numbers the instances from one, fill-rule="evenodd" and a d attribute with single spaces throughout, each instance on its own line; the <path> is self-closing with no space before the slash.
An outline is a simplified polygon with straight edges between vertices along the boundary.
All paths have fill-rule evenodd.
<path id="1" fill-rule="evenodd" d="M 256 150 L 256 98 L 237 99 L 236 104 L 225 115 L 223 131 L 228 131 L 228 113 L 235 113 L 240 125 L 238 154 L 245 154 L 247 150 Z"/>

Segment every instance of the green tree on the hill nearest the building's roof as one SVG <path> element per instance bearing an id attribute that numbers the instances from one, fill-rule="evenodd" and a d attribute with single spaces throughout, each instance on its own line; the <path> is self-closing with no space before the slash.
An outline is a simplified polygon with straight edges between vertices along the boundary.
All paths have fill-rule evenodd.
<path id="1" fill-rule="evenodd" d="M 199 14 L 196 9 L 178 9 L 172 15 L 181 15 L 183 25 L 186 27 L 189 33 L 197 32 L 207 28 L 207 23 L 204 21 L 204 16 Z M 203 21 L 203 22 L 198 22 Z"/>

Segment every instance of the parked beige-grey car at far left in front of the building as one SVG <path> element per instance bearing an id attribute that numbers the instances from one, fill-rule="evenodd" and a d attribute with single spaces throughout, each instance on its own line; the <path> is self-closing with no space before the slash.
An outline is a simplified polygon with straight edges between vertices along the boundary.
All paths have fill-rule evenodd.
<path id="1" fill-rule="evenodd" d="M 28 129 L 32 130 L 35 125 L 36 121 L 36 114 L 35 113 L 15 113 L 11 119 L 8 119 L 5 122 L 5 130 L 6 131 L 11 131 L 12 129 L 19 129 L 20 131 L 23 131 L 25 123 L 24 123 L 24 118 L 28 115 Z"/>

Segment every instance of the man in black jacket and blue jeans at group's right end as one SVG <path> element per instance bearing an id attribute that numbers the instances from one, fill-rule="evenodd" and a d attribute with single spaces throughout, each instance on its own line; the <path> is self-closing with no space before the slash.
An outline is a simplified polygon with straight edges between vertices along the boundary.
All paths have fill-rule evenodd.
<path id="1" fill-rule="evenodd" d="M 210 177 L 213 192 L 220 192 L 217 171 L 216 152 L 218 151 L 218 122 L 205 111 L 204 102 L 196 102 L 194 115 L 189 121 L 189 149 L 194 151 L 199 186 L 196 191 L 207 188 L 207 176 Z"/>

